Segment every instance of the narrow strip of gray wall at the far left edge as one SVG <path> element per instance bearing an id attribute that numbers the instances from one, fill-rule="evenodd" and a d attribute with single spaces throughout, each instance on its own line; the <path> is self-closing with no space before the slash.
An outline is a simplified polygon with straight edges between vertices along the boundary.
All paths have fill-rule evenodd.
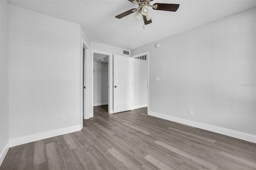
<path id="1" fill-rule="evenodd" d="M 9 139 L 8 44 L 9 44 L 8 43 L 8 2 L 7 0 L 1 0 L 0 1 L 0 153 L 2 153 Z"/>

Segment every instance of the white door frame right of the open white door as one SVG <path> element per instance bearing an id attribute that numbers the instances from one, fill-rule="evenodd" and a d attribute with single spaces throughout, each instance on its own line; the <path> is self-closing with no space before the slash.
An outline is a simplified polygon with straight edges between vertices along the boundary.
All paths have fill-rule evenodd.
<path id="1" fill-rule="evenodd" d="M 149 51 L 132 55 L 131 57 L 136 58 L 142 55 L 147 55 L 147 61 L 148 61 L 148 112 L 149 112 Z M 134 64 L 132 65 L 132 82 L 134 82 Z M 134 83 L 132 83 L 132 102 L 134 103 Z M 134 104 L 132 104 L 132 110 L 133 109 L 134 109 Z"/>

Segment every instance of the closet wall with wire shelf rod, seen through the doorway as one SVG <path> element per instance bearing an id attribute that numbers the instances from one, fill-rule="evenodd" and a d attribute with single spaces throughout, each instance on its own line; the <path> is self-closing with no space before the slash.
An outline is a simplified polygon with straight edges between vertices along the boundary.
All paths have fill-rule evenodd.
<path id="1" fill-rule="evenodd" d="M 93 105 L 108 105 L 108 63 L 93 62 L 93 69 L 106 70 L 93 73 Z"/>

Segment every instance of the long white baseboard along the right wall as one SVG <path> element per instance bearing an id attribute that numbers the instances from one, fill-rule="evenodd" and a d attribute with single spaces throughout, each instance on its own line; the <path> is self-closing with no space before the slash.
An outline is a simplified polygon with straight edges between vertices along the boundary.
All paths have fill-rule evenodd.
<path id="1" fill-rule="evenodd" d="M 148 111 L 148 115 L 256 143 L 256 135 Z"/>

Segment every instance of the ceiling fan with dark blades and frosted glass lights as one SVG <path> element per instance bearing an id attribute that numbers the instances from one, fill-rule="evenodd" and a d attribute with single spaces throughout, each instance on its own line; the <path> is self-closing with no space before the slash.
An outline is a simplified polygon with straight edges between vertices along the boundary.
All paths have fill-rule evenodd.
<path id="1" fill-rule="evenodd" d="M 152 23 L 152 15 L 149 12 L 149 6 L 153 8 L 153 10 L 162 10 L 162 11 L 172 11 L 175 12 L 178 10 L 180 4 L 162 4 L 162 3 L 156 3 L 154 5 L 151 5 L 150 2 L 153 0 L 128 0 L 132 3 L 138 4 L 138 8 L 130 9 L 126 12 L 123 12 L 122 14 L 119 14 L 116 16 L 116 18 L 120 19 L 125 16 L 128 16 L 129 14 L 132 14 L 136 12 L 135 18 L 140 20 L 141 16 L 143 17 L 144 24 L 150 24 Z"/>

